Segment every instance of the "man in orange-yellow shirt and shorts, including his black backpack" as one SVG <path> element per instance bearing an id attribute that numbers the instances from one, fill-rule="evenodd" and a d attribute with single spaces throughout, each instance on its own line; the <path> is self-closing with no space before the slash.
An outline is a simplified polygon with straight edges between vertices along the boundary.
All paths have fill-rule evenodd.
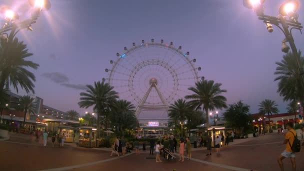
<path id="1" fill-rule="evenodd" d="M 284 144 L 286 144 L 285 150 L 278 156 L 277 162 L 281 170 L 284 170 L 283 159 L 290 158 L 292 164 L 292 170 L 295 171 L 295 152 L 300 150 L 300 141 L 297 139 L 296 132 L 293 129 L 293 123 L 287 123 L 287 132 L 285 133 Z"/>

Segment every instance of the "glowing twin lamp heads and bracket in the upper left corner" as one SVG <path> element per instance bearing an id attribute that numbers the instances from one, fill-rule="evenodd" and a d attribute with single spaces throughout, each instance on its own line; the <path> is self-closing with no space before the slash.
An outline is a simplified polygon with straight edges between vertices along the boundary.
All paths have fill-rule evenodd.
<path id="1" fill-rule="evenodd" d="M 33 10 L 31 16 L 23 21 L 18 21 L 19 15 L 9 7 L 4 6 L 1 8 L 0 12 L 4 14 L 4 24 L 0 28 L 1 38 L 12 40 L 19 30 L 23 28 L 32 30 L 31 24 L 36 22 L 41 10 L 48 10 L 50 8 L 49 0 L 28 0 L 28 3 Z M 7 31 L 10 31 L 9 35 L 6 33 Z"/>

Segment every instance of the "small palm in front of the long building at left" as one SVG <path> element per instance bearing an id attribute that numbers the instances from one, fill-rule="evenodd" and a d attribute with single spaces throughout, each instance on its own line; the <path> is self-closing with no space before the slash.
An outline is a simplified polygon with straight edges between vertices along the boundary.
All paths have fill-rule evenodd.
<path id="1" fill-rule="evenodd" d="M 25 122 L 27 112 L 29 113 L 29 115 L 35 114 L 35 110 L 36 110 L 35 99 L 33 97 L 30 97 L 29 95 L 21 96 L 20 97 L 20 107 L 24 111 L 23 122 Z"/>

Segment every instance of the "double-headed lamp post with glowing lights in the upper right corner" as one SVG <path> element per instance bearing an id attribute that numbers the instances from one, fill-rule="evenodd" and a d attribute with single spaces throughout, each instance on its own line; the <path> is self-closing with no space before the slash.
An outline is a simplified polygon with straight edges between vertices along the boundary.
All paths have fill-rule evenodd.
<path id="1" fill-rule="evenodd" d="M 298 71 L 301 75 L 302 83 L 304 83 L 304 78 L 302 75 L 304 72 L 299 61 L 300 56 L 297 53 L 291 32 L 292 29 L 297 29 L 301 32 L 301 29 L 303 28 L 301 23 L 297 20 L 298 14 L 296 13 L 296 10 L 299 7 L 298 0 L 286 0 L 286 2 L 281 4 L 278 10 L 278 16 L 265 15 L 263 2 L 264 0 L 243 0 L 243 5 L 247 8 L 252 8 L 256 12 L 258 19 L 262 20 L 265 23 L 268 32 L 272 32 L 272 25 L 275 25 L 284 33 L 285 38 L 282 40 L 281 51 L 285 53 L 289 51 L 289 46 L 286 45 L 286 42 L 289 42 L 292 53 L 295 56 L 297 66 L 299 68 Z"/>

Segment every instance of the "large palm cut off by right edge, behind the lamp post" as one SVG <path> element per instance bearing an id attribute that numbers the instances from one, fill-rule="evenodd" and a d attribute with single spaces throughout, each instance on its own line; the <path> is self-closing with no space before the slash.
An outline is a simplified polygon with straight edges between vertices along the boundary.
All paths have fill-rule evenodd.
<path id="1" fill-rule="evenodd" d="M 301 66 L 304 65 L 304 57 L 301 56 L 301 51 L 298 51 L 299 61 Z M 274 72 L 278 80 L 277 92 L 283 96 L 283 100 L 299 100 L 301 104 L 304 102 L 304 83 L 301 79 L 301 73 L 296 63 L 296 57 L 293 53 L 288 52 L 283 55 L 283 59 L 277 64 Z"/>

